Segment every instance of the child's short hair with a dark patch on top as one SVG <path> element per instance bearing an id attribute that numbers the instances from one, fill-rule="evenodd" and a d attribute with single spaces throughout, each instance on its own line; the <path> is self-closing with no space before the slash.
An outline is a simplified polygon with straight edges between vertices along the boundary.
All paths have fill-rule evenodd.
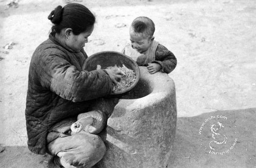
<path id="1" fill-rule="evenodd" d="M 133 20 L 131 26 L 133 27 L 135 32 L 145 33 L 150 37 L 152 37 L 155 32 L 154 22 L 145 16 L 137 17 L 135 20 Z"/>

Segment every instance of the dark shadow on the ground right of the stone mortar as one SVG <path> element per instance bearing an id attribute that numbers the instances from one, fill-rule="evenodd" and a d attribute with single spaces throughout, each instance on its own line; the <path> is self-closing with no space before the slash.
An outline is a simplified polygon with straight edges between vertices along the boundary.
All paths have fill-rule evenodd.
<path id="1" fill-rule="evenodd" d="M 227 117 L 227 123 L 234 121 L 231 128 L 238 130 L 237 143 L 234 148 L 224 155 L 213 155 L 204 152 L 198 141 L 199 128 L 205 119 L 211 116 Z M 168 168 L 255 168 L 256 165 L 256 108 L 216 111 L 195 117 L 182 117 L 177 120 L 174 150 Z M 210 121 L 209 121 L 210 122 Z M 230 127 L 229 126 L 229 127 Z M 204 125 L 203 127 L 206 127 Z M 227 134 L 232 134 L 229 132 Z M 235 133 L 233 133 L 235 135 Z M 208 135 L 209 139 L 212 137 Z M 228 147 L 233 144 L 234 137 L 228 137 Z M 206 137 L 205 137 L 206 138 Z M 231 141 L 231 144 L 229 142 Z M 205 142 L 205 145 L 209 145 Z M 228 149 L 227 147 L 222 151 Z"/>

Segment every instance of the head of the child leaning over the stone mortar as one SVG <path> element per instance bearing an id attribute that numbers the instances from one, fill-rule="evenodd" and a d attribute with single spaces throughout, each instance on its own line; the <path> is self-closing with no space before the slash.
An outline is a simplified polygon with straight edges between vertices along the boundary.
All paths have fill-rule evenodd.
<path id="1" fill-rule="evenodd" d="M 130 40 L 132 47 L 139 53 L 148 50 L 154 40 L 155 24 L 144 16 L 137 17 L 133 20 L 130 27 Z"/>

